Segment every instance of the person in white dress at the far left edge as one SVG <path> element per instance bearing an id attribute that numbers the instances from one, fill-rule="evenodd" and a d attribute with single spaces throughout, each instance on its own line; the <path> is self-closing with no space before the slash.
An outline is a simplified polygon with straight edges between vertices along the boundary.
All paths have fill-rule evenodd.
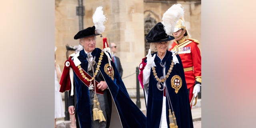
<path id="1" fill-rule="evenodd" d="M 55 52 L 57 50 L 57 47 L 55 47 Z M 55 56 L 55 128 L 56 128 L 56 118 L 63 118 L 65 117 L 64 108 L 63 108 L 63 102 L 61 98 L 61 94 L 59 92 L 60 90 L 60 84 L 58 82 L 58 79 L 61 77 L 62 73 L 60 71 L 60 66 L 56 62 L 56 54 Z"/>

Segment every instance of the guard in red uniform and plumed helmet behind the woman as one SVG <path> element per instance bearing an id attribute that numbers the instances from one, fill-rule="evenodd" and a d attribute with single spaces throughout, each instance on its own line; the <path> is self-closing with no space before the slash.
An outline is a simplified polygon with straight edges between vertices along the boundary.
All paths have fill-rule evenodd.
<path id="1" fill-rule="evenodd" d="M 198 48 L 198 40 L 190 37 L 185 26 L 184 18 L 180 18 L 174 28 L 172 35 L 175 41 L 172 43 L 170 50 L 178 52 L 184 72 L 189 93 L 189 101 L 192 97 L 196 98 L 201 87 L 201 54 Z"/>

